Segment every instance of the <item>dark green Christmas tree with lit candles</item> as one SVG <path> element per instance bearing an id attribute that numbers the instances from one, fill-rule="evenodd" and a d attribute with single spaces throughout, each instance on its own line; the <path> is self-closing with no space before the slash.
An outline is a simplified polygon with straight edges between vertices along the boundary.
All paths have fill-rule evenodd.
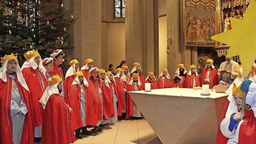
<path id="1" fill-rule="evenodd" d="M 24 53 L 38 49 L 42 59 L 50 57 L 55 49 L 68 51 L 67 39 L 75 22 L 65 17 L 65 8 L 57 6 L 46 11 L 52 0 L 0 0 L 0 57 L 18 55 L 19 64 Z"/>

